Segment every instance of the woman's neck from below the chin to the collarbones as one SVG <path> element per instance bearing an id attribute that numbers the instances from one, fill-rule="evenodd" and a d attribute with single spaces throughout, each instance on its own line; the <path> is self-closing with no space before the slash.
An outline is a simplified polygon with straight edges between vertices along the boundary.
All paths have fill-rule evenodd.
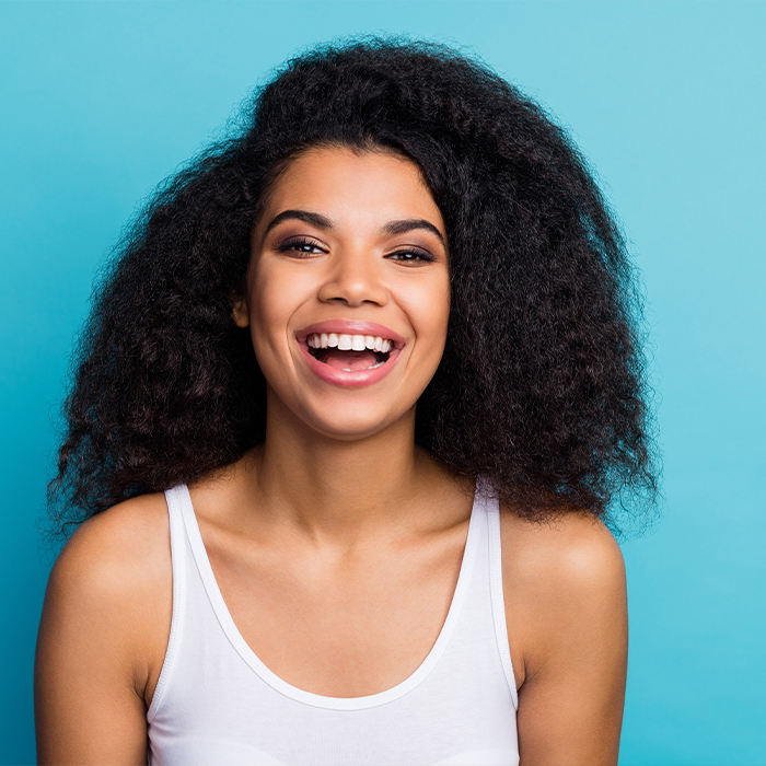
<path id="1" fill-rule="evenodd" d="M 316 433 L 274 399 L 255 491 L 269 515 L 317 542 L 353 545 L 401 527 L 442 473 L 415 445 L 415 408 L 374 436 L 345 441 Z"/>

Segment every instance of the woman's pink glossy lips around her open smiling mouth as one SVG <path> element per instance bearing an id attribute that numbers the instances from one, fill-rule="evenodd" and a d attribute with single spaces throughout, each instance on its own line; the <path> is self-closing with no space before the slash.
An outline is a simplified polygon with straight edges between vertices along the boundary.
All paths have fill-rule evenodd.
<path id="1" fill-rule="evenodd" d="M 329 364 L 325 364 L 311 356 L 306 338 L 314 333 L 380 336 L 393 340 L 394 348 L 388 352 L 388 359 L 386 359 L 385 363 L 381 364 L 381 367 L 374 370 L 352 370 L 351 372 L 347 372 L 346 370 L 338 370 Z M 405 338 L 394 333 L 388 327 L 380 325 L 376 322 L 362 322 L 359 320 L 327 320 L 325 322 L 315 322 L 307 327 L 299 329 L 295 333 L 295 339 L 298 340 L 301 353 L 303 353 L 303 358 L 317 378 L 326 383 L 349 387 L 372 385 L 373 383 L 382 381 L 394 369 L 402 353 L 402 349 L 407 344 Z"/>

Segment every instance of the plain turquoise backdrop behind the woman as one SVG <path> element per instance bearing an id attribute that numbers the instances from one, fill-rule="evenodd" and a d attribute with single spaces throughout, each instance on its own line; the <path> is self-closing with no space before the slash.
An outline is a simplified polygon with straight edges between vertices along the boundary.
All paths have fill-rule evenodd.
<path id="1" fill-rule="evenodd" d="M 762 2 L 0 3 L 0 762 L 35 757 L 37 523 L 95 269 L 267 70 L 360 32 L 478 53 L 604 179 L 649 297 L 666 497 L 624 545 L 620 764 L 766 764 Z"/>

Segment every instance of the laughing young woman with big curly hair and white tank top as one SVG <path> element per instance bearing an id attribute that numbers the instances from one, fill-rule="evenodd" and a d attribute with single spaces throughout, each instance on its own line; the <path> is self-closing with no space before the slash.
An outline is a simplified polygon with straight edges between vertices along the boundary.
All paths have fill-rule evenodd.
<path id="1" fill-rule="evenodd" d="M 654 479 L 582 160 L 428 44 L 314 50 L 251 114 L 156 195 L 82 336 L 40 762 L 615 764 L 604 521 Z"/>

